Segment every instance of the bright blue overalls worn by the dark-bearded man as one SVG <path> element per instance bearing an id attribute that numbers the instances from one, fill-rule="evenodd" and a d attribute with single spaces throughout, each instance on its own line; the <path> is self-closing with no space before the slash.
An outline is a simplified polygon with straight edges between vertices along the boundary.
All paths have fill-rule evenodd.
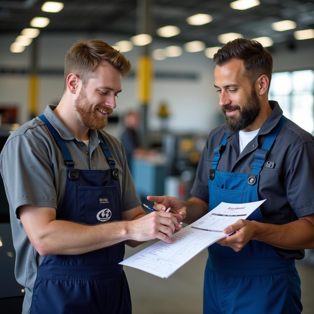
<path id="1" fill-rule="evenodd" d="M 214 151 L 209 172 L 209 211 L 219 203 L 258 201 L 259 176 L 268 151 L 286 118 L 268 134 L 262 148 L 257 149 L 251 173 L 218 171 L 217 165 L 227 144 L 225 134 Z M 266 201 L 267 202 L 267 201 Z M 268 204 L 276 206 L 276 204 Z M 260 208 L 249 220 L 263 222 Z M 300 278 L 294 260 L 278 256 L 263 242 L 251 240 L 240 252 L 215 243 L 208 247 L 205 269 L 204 314 L 297 314 L 301 313 Z"/>

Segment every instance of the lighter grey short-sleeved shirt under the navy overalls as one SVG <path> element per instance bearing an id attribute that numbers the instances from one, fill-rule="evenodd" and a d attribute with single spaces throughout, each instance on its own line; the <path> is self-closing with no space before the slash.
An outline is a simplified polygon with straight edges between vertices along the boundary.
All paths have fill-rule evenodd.
<path id="1" fill-rule="evenodd" d="M 44 114 L 66 141 L 75 168 L 107 170 L 110 166 L 100 147 L 97 132 L 90 130 L 89 148 L 75 138 L 53 113 L 56 106 L 47 106 Z M 120 140 L 101 131 L 116 161 L 122 197 L 122 211 L 140 205 L 133 180 L 127 166 L 125 151 Z M 67 179 L 67 167 L 62 152 L 45 123 L 36 117 L 15 130 L 0 154 L 0 171 L 10 206 L 13 243 L 16 251 L 15 277 L 25 287 L 23 313 L 30 306 L 37 267 L 41 257 L 30 243 L 17 209 L 31 204 L 38 207 L 61 206 Z"/>

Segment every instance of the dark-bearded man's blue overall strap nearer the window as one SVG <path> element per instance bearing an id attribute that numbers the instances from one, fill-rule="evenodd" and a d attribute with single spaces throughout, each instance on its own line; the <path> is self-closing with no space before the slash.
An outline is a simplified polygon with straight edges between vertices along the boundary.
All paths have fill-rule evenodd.
<path id="1" fill-rule="evenodd" d="M 252 165 L 252 172 L 247 176 L 247 183 L 249 185 L 254 185 L 256 183 L 256 178 L 259 175 L 262 167 L 266 161 L 269 150 L 271 149 L 273 142 L 275 141 L 281 127 L 287 120 L 285 116 L 281 116 L 277 125 L 268 133 L 261 149 L 257 149 L 254 154 L 254 164 Z"/>

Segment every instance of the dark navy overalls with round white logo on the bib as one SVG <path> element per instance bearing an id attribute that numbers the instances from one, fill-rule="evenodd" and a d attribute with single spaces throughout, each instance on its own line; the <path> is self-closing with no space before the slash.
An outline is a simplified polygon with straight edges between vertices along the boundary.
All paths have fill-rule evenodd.
<path id="1" fill-rule="evenodd" d="M 65 141 L 40 116 L 62 150 L 67 182 L 57 219 L 95 225 L 122 220 L 118 170 L 98 132 L 108 170 L 78 170 Z M 40 187 L 39 187 L 40 188 Z M 78 255 L 48 255 L 37 269 L 31 314 L 129 314 L 131 298 L 122 265 L 124 242 Z"/>

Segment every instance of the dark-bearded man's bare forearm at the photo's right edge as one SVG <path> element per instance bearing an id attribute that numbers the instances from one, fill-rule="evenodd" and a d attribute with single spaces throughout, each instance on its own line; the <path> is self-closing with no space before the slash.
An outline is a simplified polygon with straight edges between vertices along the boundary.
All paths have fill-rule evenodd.
<path id="1" fill-rule="evenodd" d="M 314 225 L 310 220 L 299 219 L 284 225 L 252 223 L 253 240 L 288 250 L 314 248 Z"/>

